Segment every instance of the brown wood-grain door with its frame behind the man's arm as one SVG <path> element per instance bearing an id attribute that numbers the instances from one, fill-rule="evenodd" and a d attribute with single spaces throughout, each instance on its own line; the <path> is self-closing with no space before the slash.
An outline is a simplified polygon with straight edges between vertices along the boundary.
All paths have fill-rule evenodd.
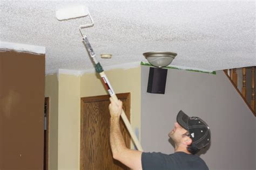
<path id="1" fill-rule="evenodd" d="M 117 94 L 130 121 L 130 93 Z M 80 169 L 129 169 L 114 160 L 110 148 L 109 95 L 81 98 Z M 120 118 L 126 146 L 130 148 L 130 134 Z"/>

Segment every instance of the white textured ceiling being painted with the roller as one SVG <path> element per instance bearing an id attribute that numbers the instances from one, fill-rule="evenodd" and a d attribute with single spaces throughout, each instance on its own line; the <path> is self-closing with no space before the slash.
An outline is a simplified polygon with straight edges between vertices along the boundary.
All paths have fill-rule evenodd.
<path id="1" fill-rule="evenodd" d="M 172 66 L 220 70 L 256 65 L 255 1 L 1 1 L 0 41 L 44 46 L 46 73 L 91 69 L 78 26 L 55 12 L 86 5 L 84 29 L 104 66 L 146 61 L 150 51 L 178 53 Z M 102 53 L 112 59 L 100 59 Z"/>

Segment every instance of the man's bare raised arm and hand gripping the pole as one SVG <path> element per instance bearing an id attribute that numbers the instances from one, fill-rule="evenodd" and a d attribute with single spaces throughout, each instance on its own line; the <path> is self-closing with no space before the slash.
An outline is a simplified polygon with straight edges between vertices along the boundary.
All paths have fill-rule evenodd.
<path id="1" fill-rule="evenodd" d="M 123 103 L 120 100 L 116 103 L 112 98 L 110 98 L 110 102 L 110 145 L 113 158 L 132 169 L 142 169 L 142 152 L 127 148 L 120 130 L 120 114 L 122 114 Z"/>

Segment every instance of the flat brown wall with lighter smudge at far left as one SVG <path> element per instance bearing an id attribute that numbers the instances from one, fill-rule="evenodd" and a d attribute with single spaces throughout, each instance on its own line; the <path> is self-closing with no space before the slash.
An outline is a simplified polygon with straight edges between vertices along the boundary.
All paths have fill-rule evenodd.
<path id="1" fill-rule="evenodd" d="M 45 56 L 0 52 L 0 169 L 43 169 Z"/>

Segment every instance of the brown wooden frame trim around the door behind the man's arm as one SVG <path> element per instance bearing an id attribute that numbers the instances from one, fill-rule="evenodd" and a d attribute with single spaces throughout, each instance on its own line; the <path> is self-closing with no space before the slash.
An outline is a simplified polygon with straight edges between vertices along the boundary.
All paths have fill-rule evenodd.
<path id="1" fill-rule="evenodd" d="M 127 111 L 125 112 L 127 119 L 130 121 L 130 110 L 131 110 L 131 93 L 122 93 L 116 94 L 119 100 L 126 100 Z M 90 96 L 90 97 L 81 97 L 80 100 L 80 170 L 83 170 L 83 160 L 84 160 L 84 103 L 87 102 L 100 102 L 109 100 L 110 95 L 100 95 L 100 96 Z M 109 121 L 109 120 L 106 120 Z M 131 141 L 131 137 L 129 134 L 129 140 Z M 130 148 L 130 143 L 127 146 Z"/>

